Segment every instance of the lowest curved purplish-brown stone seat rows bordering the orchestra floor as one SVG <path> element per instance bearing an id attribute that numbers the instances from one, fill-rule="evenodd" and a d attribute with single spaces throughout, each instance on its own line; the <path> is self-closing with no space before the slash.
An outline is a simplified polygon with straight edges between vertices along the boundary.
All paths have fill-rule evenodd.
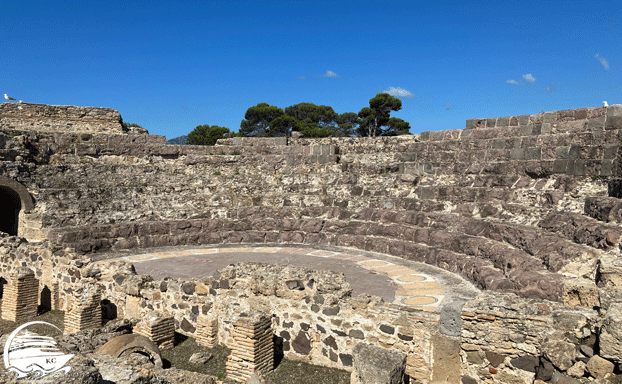
<path id="1" fill-rule="evenodd" d="M 554 226 L 548 230 L 439 212 L 253 207 L 231 210 L 229 213 L 230 218 L 227 219 L 136 223 L 125 229 L 115 226 L 91 227 L 85 236 L 87 239 L 99 238 L 102 243 L 108 242 L 109 247 L 117 247 L 116 244 L 119 244 L 128 248 L 139 243 L 150 247 L 223 243 L 353 247 L 456 271 L 456 268 L 438 256 L 438 252 L 451 252 L 461 254 L 465 260 L 480 260 L 477 263 L 488 265 L 492 268 L 489 270 L 496 271 L 494 275 L 497 280 L 514 282 L 518 294 L 523 291 L 521 287 L 525 284 L 522 282 L 525 276 L 531 276 L 531 280 L 548 281 L 549 273 L 556 274 L 579 259 L 596 257 L 596 250 L 592 247 L 610 249 L 620 239 L 620 231 L 616 228 L 582 215 L 575 218 L 577 225 L 571 233 L 569 230 L 560 231 Z M 589 225 L 579 225 L 579 218 Z M 600 229 L 595 231 L 595 228 Z M 124 233 L 125 236 L 117 240 L 114 233 Z M 601 234 L 609 240 L 602 242 Z M 77 249 L 82 244 L 87 247 L 93 244 L 92 240 L 83 240 L 83 243 L 63 241 L 75 239 L 75 232 L 72 235 L 57 232 L 57 236 L 55 241 L 60 240 L 61 244 L 76 246 Z M 463 268 L 457 269 L 462 271 Z M 469 280 L 481 285 L 486 276 L 480 270 L 462 272 Z M 563 280 L 561 275 L 558 280 Z M 491 287 L 505 290 L 511 289 L 512 285 L 508 283 Z M 542 298 L 559 300 L 560 292 L 540 290 L 539 294 Z"/>

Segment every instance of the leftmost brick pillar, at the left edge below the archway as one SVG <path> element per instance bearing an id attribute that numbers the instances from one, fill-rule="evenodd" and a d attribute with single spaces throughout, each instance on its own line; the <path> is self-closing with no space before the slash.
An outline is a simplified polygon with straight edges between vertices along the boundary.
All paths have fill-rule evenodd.
<path id="1" fill-rule="evenodd" d="M 39 281 L 29 268 L 20 267 L 13 272 L 2 294 L 2 318 L 21 321 L 37 316 L 39 307 Z"/>

